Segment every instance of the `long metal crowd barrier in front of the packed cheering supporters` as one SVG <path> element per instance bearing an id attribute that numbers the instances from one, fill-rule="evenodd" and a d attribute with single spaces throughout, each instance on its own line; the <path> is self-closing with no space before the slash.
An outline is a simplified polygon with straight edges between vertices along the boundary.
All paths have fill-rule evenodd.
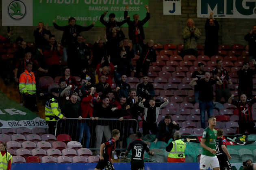
<path id="1" fill-rule="evenodd" d="M 136 119 L 82 119 L 67 118 L 67 120 L 59 119 L 56 121 L 55 136 L 58 134 L 69 134 L 72 140 L 80 142 L 83 147 L 96 150 L 99 153 L 100 144 L 109 140 L 111 131 L 118 129 L 120 138 L 116 142 L 116 149 L 125 150 L 127 147 L 127 138 L 130 134 L 136 133 L 138 130 L 138 121 Z M 105 137 L 105 138 L 104 138 Z M 98 151 L 97 151 L 98 150 Z M 117 153 L 119 155 L 119 153 Z"/>

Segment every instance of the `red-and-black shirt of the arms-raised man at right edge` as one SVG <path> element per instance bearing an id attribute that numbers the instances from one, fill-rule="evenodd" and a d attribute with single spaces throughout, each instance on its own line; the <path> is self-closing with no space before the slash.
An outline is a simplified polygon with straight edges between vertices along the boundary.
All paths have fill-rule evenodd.
<path id="1" fill-rule="evenodd" d="M 239 120 L 253 121 L 252 119 L 252 104 L 256 103 L 256 99 L 247 100 L 245 103 L 241 101 L 232 100 L 231 104 L 237 106 L 239 111 Z"/>

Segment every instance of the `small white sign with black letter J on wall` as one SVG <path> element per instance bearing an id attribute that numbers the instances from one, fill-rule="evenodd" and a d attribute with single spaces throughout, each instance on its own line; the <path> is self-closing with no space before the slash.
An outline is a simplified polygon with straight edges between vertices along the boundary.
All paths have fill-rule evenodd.
<path id="1" fill-rule="evenodd" d="M 181 15 L 181 0 L 163 0 L 164 15 Z"/>

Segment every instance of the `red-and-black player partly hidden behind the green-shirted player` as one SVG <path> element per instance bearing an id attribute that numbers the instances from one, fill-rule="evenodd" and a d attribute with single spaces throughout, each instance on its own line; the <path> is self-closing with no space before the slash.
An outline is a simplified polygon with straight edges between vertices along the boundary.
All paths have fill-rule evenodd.
<path id="1" fill-rule="evenodd" d="M 217 139 L 216 139 L 216 156 L 219 159 L 219 168 L 220 170 L 232 170 L 232 166 L 228 159 L 232 159 L 228 153 L 226 140 L 223 139 L 223 130 L 217 130 Z"/>

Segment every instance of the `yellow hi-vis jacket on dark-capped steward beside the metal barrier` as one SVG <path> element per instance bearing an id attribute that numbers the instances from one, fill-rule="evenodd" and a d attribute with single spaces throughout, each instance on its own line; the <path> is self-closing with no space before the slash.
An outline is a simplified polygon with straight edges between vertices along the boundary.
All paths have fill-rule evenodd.
<path id="1" fill-rule="evenodd" d="M 51 98 L 46 102 L 45 115 L 46 121 L 57 121 L 63 117 L 59 103 L 55 98 Z"/>

